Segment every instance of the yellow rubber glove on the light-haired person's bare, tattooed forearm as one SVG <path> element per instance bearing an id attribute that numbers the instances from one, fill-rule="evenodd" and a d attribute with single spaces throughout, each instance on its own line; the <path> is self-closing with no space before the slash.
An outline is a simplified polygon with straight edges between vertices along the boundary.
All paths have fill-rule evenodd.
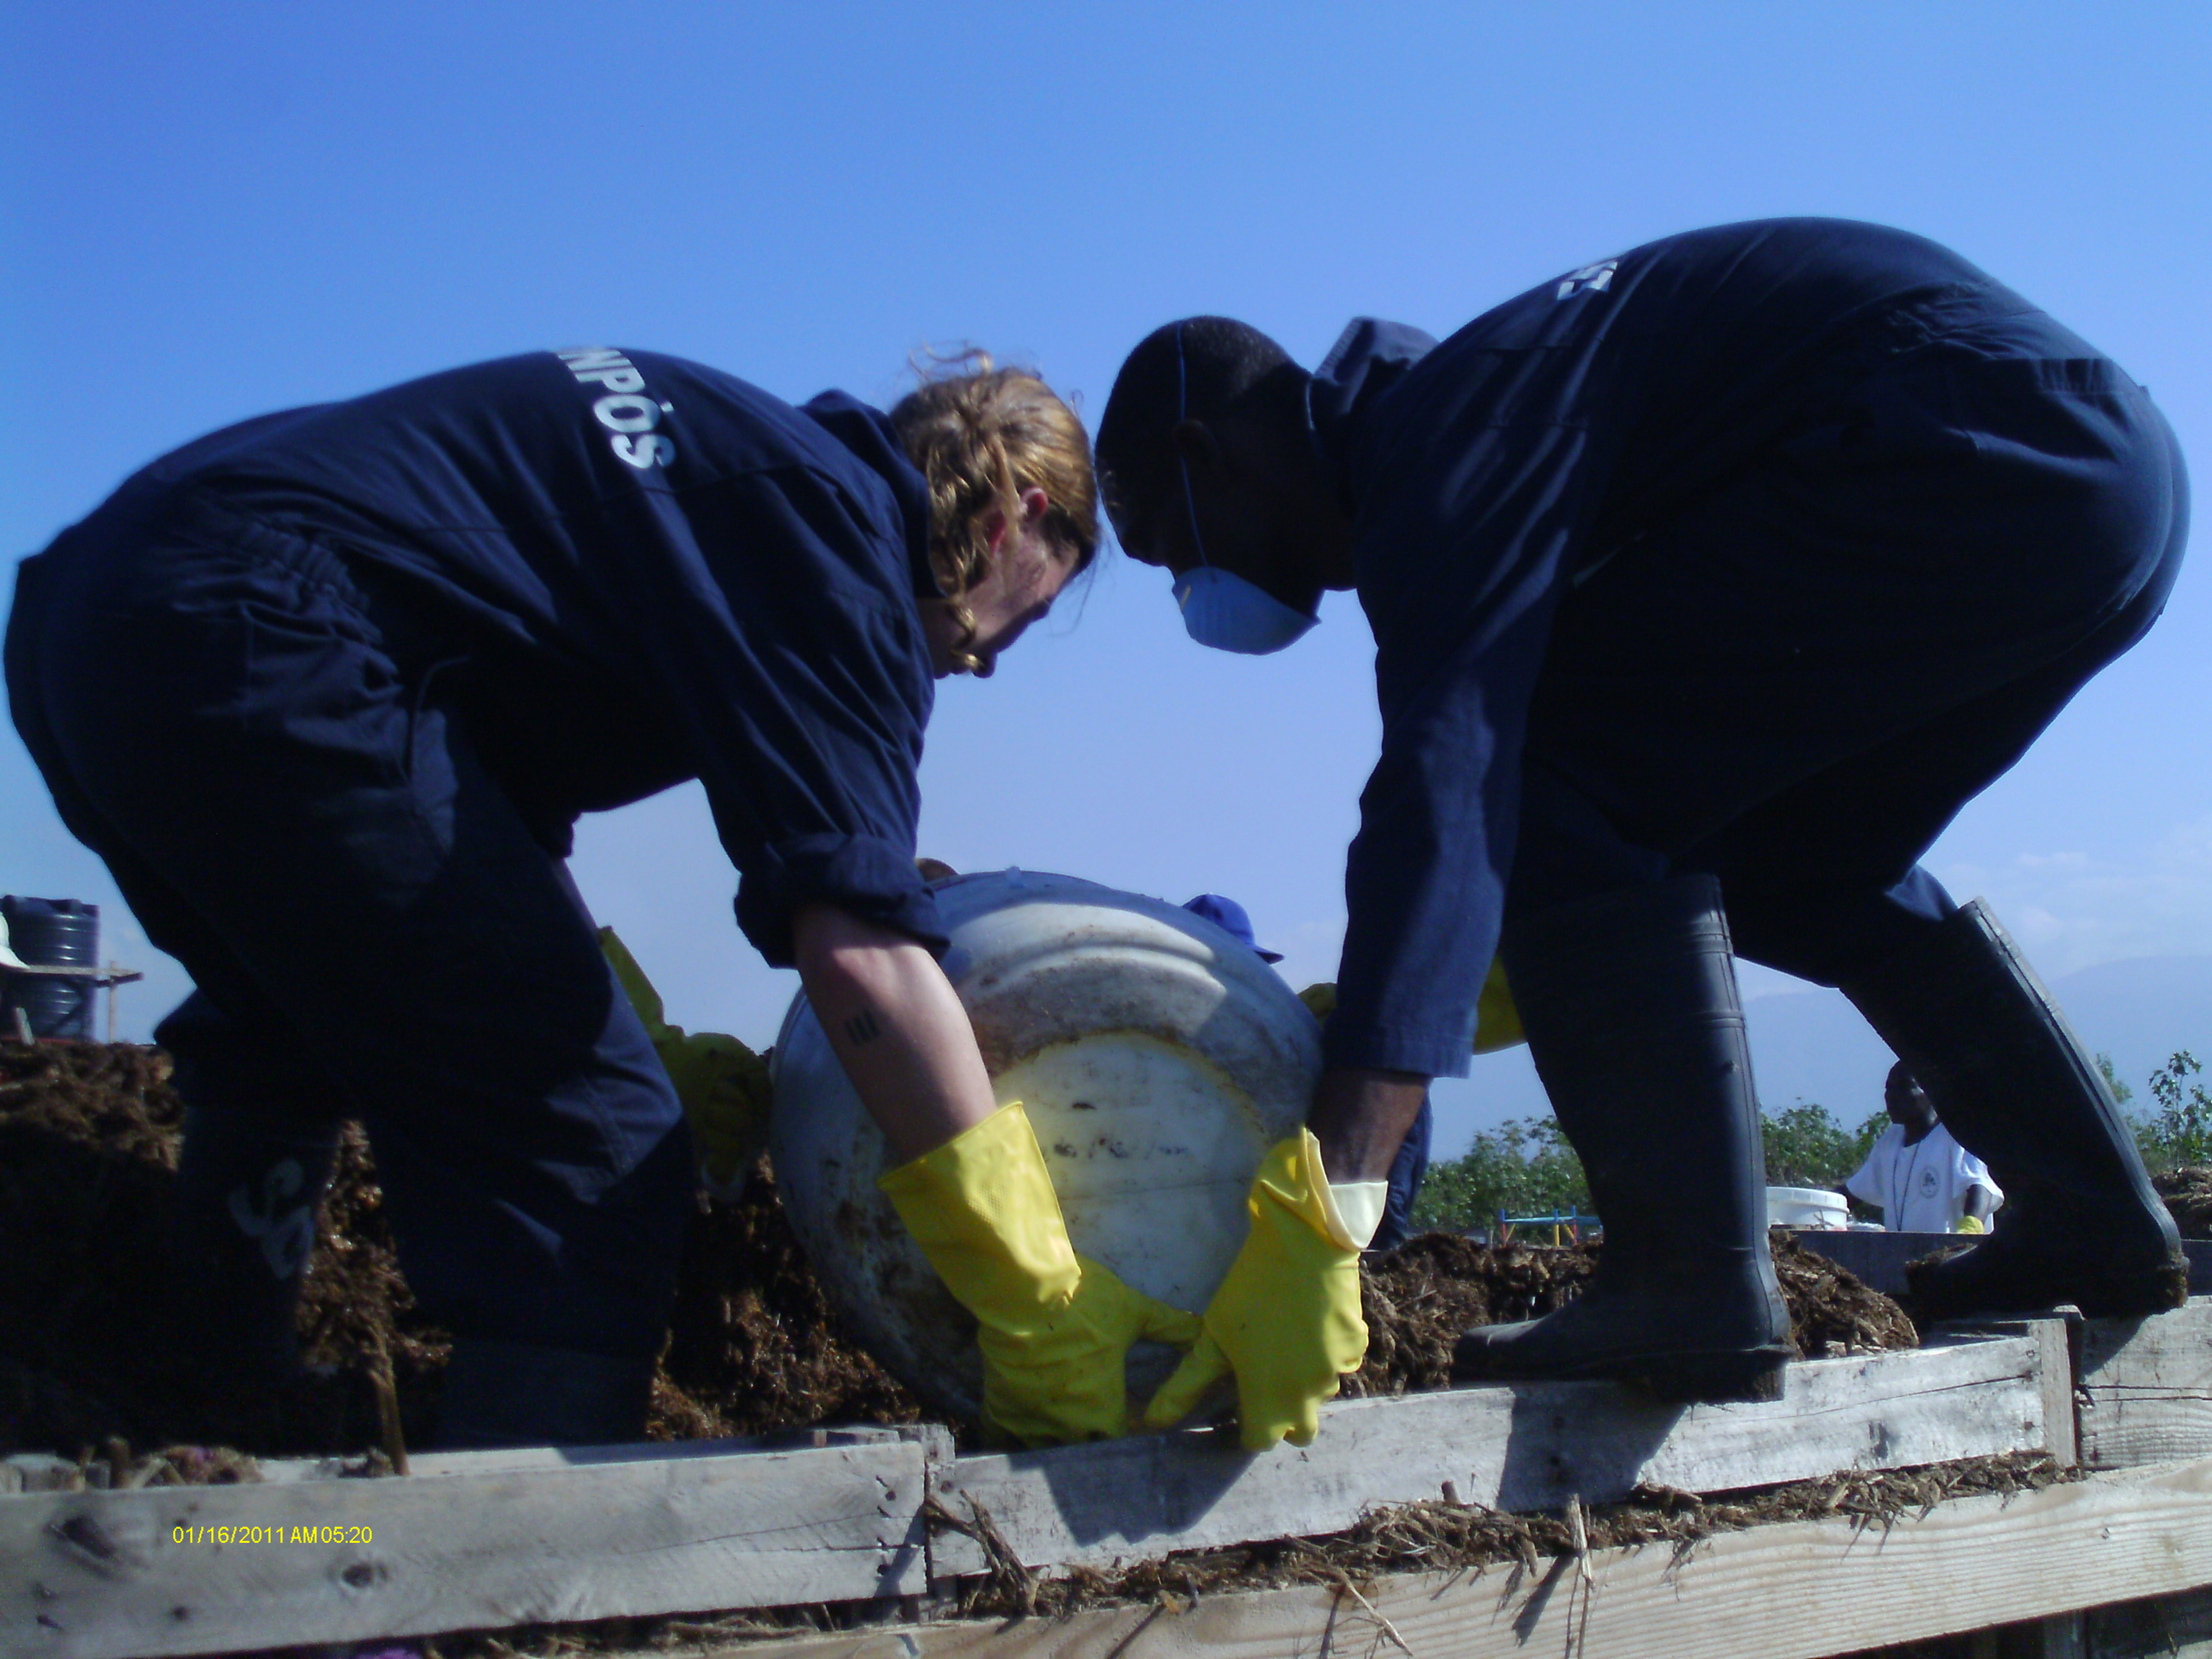
<path id="1" fill-rule="evenodd" d="M 975 1314 L 984 1427 L 1026 1447 L 1130 1431 L 1121 1363 L 1141 1336 L 1190 1347 L 1197 1314 L 1075 1254 L 1020 1102 L 878 1181 L 945 1287 Z"/>

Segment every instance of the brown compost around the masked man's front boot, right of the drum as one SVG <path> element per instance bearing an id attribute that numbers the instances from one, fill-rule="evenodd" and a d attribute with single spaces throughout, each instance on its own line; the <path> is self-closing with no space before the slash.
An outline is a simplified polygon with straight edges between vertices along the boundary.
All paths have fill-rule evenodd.
<path id="1" fill-rule="evenodd" d="M 1363 1270 L 1367 1363 L 1345 1394 L 1447 1387 L 1460 1332 L 1537 1318 L 1573 1301 L 1597 1270 L 1597 1250 L 1482 1245 L 1453 1232 L 1407 1239 Z M 1785 1232 L 1774 1234 L 1774 1274 L 1790 1303 L 1790 1338 L 1805 1358 L 1920 1347 L 1898 1303 Z"/>

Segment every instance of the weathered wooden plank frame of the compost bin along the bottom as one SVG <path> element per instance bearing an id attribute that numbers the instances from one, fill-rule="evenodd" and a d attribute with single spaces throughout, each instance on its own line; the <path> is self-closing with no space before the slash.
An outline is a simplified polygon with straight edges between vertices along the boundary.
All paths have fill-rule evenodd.
<path id="1" fill-rule="evenodd" d="M 953 1458 L 949 1436 L 925 1425 L 818 1433 L 814 1444 L 796 1447 L 695 1442 L 418 1455 L 414 1473 L 398 1480 L 338 1480 L 332 1464 L 270 1464 L 263 1484 L 243 1486 L 18 1491 L 0 1495 L 0 1652 L 58 1659 L 237 1652 L 818 1601 L 914 1610 L 914 1601 L 894 1597 L 918 1597 L 982 1566 L 964 1535 L 931 1535 L 922 1520 L 927 1498 L 956 1515 L 982 1504 L 1024 1564 L 1048 1571 L 1332 1533 L 1367 1509 L 1436 1498 L 1444 1482 L 1464 1502 L 1548 1509 L 1568 1493 L 1608 1502 L 1646 1480 L 1732 1491 L 1840 1469 L 2004 1451 L 2051 1451 L 2073 1462 L 2077 1447 L 2097 1469 L 2154 1453 L 2166 1473 L 2130 1471 L 2011 1500 L 1942 1504 L 1938 1515 L 1958 1517 L 1949 1531 L 1922 1531 L 1936 1520 L 1931 1515 L 1891 1528 L 1889 1537 L 1931 1540 L 1924 1555 L 1909 1557 L 1929 1562 L 1927 1573 L 1949 1573 L 1960 1551 L 1993 1544 L 2002 1564 L 1960 1568 L 1962 1588 L 1936 1599 L 1916 1568 L 1911 1579 L 1885 1577 L 1885 1593 L 1871 1599 L 1909 1601 L 1916 1619 L 1938 1619 L 1927 1624 L 1936 1632 L 2212 1584 L 2212 1391 L 2201 1369 L 2190 1369 L 2212 1354 L 2212 1301 L 2199 1298 L 2152 1321 L 2088 1323 L 2073 1332 L 2079 1360 L 2068 1352 L 2068 1336 L 2062 1321 L 2028 1321 L 1949 1338 L 1938 1334 L 1929 1347 L 1907 1354 L 1801 1363 L 1790 1367 L 1783 1400 L 1763 1405 L 1657 1409 L 1608 1385 L 1340 1400 L 1325 1407 L 1312 1447 L 1263 1455 L 1241 1453 L 1228 1436 L 1192 1431 Z M 2079 1422 L 2095 1431 L 2088 1440 L 2077 1440 L 2077 1400 Z M 55 1460 L 0 1464 L 0 1482 L 22 1486 L 73 1475 L 73 1464 Z M 2126 1520 L 2135 1513 L 2130 1506 L 2141 1511 L 2141 1524 Z M 2192 1517 L 2190 1540 L 2179 1537 L 2192 1531 L 2181 1517 Z M 232 1542 L 206 1542 L 206 1528 L 223 1526 L 270 1531 L 232 1531 Z M 274 1528 L 283 1542 L 261 1542 Z M 2099 1553 L 2084 1542 L 2097 1528 L 2115 1531 L 2090 1542 L 2132 1542 L 2126 1551 Z M 1708 1540 L 1690 1553 L 1697 1584 L 1721 1586 L 1701 1588 L 1697 1597 L 1705 1608 L 1699 1617 L 1712 1626 L 1708 1646 L 1694 1648 L 1697 1619 L 1690 1619 L 1681 1624 L 1681 1646 L 1641 1646 L 1639 1652 L 1743 1652 L 1741 1626 L 1723 1628 L 1736 1617 L 1732 1597 L 1796 1597 L 1798 1577 L 1832 1568 L 1856 1573 L 1889 1562 L 1887 1575 L 1907 1562 L 1902 1548 L 1900 1542 L 1896 1551 L 1887 1544 L 1876 1551 L 1867 1535 L 1847 1537 L 1847 1528 L 1825 1526 L 1765 1526 L 1754 1535 Z M 2068 1577 L 2073 1568 L 2062 1559 L 2068 1551 L 2106 1562 L 2095 1593 L 2090 1577 Z M 1582 1588 L 1562 1595 L 1564 1584 L 1544 1590 L 1557 1568 L 1535 1586 L 1520 1586 L 1513 1617 L 1526 1615 L 1524 1628 L 1546 1635 L 1535 1648 L 1515 1646 L 1515 1652 L 1542 1652 L 1544 1639 L 1564 1641 L 1568 1626 L 1559 1619 L 1577 1597 L 1588 1601 L 1575 1613 L 1575 1630 L 1584 1632 L 1577 1641 L 1597 1628 L 1588 1624 L 1597 1608 L 1635 1606 L 1635 1597 L 1650 1597 L 1652 1606 L 1681 1599 L 1679 1566 L 1670 1568 L 1650 1551 L 1615 1555 L 1621 1559 L 1606 1557 L 1595 1599 Z M 2046 1555 L 2053 1564 L 2024 1566 Z M 1630 1595 L 1632 1584 L 1646 1582 L 1639 1575 L 1652 1575 L 1655 1588 Z M 1739 1579 L 1745 1588 L 1725 1588 Z M 1907 1582 L 1913 1588 L 1900 1597 L 1898 1584 Z M 1588 1579 L 1577 1573 L 1575 1586 L 1586 1588 Z M 1500 1639 L 1513 1635 L 1513 1619 L 1500 1624 L 1495 1615 L 1509 1593 L 1498 1571 L 1391 1577 L 1378 1588 L 1389 1601 L 1376 1599 L 1376 1608 L 1400 1630 L 1409 1630 L 1402 1619 L 1416 1608 L 1451 1610 L 1453 1635 L 1429 1652 L 1482 1652 L 1462 1646 L 1462 1637 L 1478 1641 L 1478 1626 L 1504 1632 Z M 1814 1597 L 1805 1606 L 1823 1608 L 1818 1646 L 1790 1646 L 1787 1652 L 1845 1652 L 1909 1637 L 1891 1621 L 1860 1641 L 1851 1635 L 1856 1626 L 1827 1617 L 1825 1593 L 1803 1595 Z M 1316 1644 L 1327 1644 L 1329 1652 L 1352 1650 L 1343 1648 L 1352 1639 L 1349 1613 L 1329 1593 L 1208 1599 L 1208 1608 L 1228 1604 L 1250 1606 L 1250 1632 L 1265 1635 L 1250 1635 L 1248 1646 L 1223 1652 L 1321 1652 Z M 1349 1599 L 1345 1608 L 1358 1610 Z M 1117 1648 L 1141 1617 L 1155 1619 L 1144 1637 Z M 1066 1626 L 991 1626 L 989 1641 L 1004 1644 L 1006 1655 L 1137 1655 L 1192 1650 L 1201 1635 L 1203 1641 L 1245 1639 L 1217 1632 L 1214 1617 L 1225 1615 L 1208 1610 L 1199 1624 L 1186 1624 L 1141 1608 L 1113 1610 Z M 1303 1648 L 1267 1646 L 1292 1626 L 1305 1630 Z M 1055 1630 L 1062 1635 L 1051 1635 Z M 1380 1626 L 1369 1635 L 1374 1630 Z M 971 1626 L 902 1624 L 836 1637 L 827 1646 L 779 1644 L 776 1652 L 905 1659 L 1000 1650 L 978 1648 L 984 1639 Z M 869 1641 L 878 1646 L 858 1646 Z M 1367 1646 L 1360 1637 L 1356 1650 Z M 1785 1650 L 1770 1646 L 1765 1635 L 1759 1646 Z"/>

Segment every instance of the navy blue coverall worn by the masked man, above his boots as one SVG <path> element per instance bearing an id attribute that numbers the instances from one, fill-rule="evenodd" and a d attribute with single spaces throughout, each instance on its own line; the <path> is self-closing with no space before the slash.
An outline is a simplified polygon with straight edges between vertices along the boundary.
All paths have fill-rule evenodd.
<path id="1" fill-rule="evenodd" d="M 2148 394 L 1931 241 L 1781 219 L 1568 272 L 1310 385 L 1383 757 L 1334 1066 L 1464 1075 L 1500 929 L 1677 872 L 1838 984 L 1918 867 L 2157 619 L 2188 484 Z"/>

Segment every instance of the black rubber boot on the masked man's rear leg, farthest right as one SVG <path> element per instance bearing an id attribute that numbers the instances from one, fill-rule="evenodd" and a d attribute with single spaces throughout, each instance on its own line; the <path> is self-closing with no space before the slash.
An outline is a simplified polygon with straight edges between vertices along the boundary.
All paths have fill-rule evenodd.
<path id="1" fill-rule="evenodd" d="M 2188 1256 L 2119 1102 L 1982 900 L 1843 993 L 2004 1188 L 1984 1243 L 1907 1270 L 1922 1318 L 2188 1301 Z"/>

